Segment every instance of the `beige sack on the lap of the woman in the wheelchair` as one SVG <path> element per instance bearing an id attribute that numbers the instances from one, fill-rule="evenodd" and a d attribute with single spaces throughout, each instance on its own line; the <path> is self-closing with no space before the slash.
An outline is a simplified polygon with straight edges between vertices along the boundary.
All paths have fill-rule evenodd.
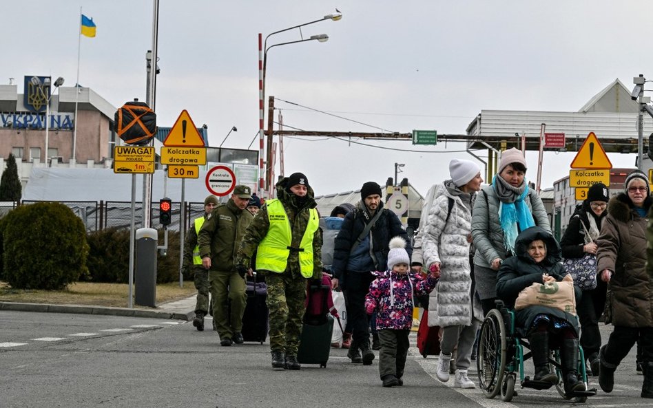
<path id="1" fill-rule="evenodd" d="M 536 282 L 521 290 L 515 301 L 515 310 L 528 306 L 556 308 L 576 316 L 576 295 L 571 275 L 565 275 L 560 282 Z"/>

